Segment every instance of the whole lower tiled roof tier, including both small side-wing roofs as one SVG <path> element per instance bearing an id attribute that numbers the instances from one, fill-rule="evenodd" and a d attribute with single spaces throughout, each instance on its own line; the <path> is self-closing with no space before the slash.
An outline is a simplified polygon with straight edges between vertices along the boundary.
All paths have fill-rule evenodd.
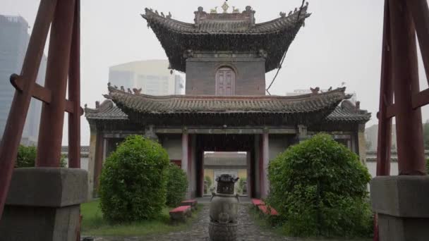
<path id="1" fill-rule="evenodd" d="M 351 104 L 345 88 L 300 96 L 151 96 L 131 94 L 109 86 L 109 94 L 96 109 L 85 106 L 88 121 L 133 121 L 173 118 L 173 116 L 243 115 L 303 116 L 301 120 L 318 118 L 322 123 L 366 123 L 370 113 Z M 340 104 L 341 103 L 341 104 Z M 170 117 L 168 117 L 170 116 Z M 249 117 L 250 117 L 249 116 Z M 165 119 L 167 118 L 167 119 Z M 277 117 L 276 117 L 277 118 Z M 133 120 L 131 120 L 133 119 Z M 289 118 L 293 120 L 294 118 Z M 315 120 L 313 120 L 315 121 Z M 203 121 L 204 123 L 204 121 Z"/>

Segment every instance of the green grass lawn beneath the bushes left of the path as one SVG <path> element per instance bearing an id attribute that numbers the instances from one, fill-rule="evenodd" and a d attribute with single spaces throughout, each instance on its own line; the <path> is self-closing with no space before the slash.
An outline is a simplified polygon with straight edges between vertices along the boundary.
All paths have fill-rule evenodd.
<path id="1" fill-rule="evenodd" d="M 199 204 L 198 211 L 201 209 L 202 205 Z M 192 218 L 188 218 L 186 223 L 170 225 L 169 210 L 171 210 L 171 208 L 165 207 L 162 210 L 162 215 L 152 221 L 109 225 L 106 221 L 103 220 L 102 211 L 99 209 L 99 201 L 82 204 L 80 206 L 80 210 L 83 216 L 81 225 L 81 233 L 83 235 L 113 237 L 145 236 L 185 230 L 186 228 L 189 228 L 191 222 L 198 214 L 198 211 L 194 211 Z"/>

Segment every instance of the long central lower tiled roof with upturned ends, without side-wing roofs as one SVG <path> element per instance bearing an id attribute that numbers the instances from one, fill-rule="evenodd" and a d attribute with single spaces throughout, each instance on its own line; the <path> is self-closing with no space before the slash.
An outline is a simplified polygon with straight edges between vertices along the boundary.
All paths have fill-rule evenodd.
<path id="1" fill-rule="evenodd" d="M 109 86 L 111 99 L 119 108 L 142 114 L 186 113 L 310 113 L 334 109 L 350 96 L 345 88 L 299 96 L 208 96 L 131 94 Z"/>

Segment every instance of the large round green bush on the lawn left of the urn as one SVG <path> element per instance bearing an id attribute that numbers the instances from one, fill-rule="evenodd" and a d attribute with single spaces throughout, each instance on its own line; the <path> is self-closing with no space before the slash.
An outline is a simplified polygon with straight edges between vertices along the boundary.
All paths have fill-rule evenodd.
<path id="1" fill-rule="evenodd" d="M 111 223 L 157 218 L 166 202 L 169 156 L 157 142 L 134 135 L 106 159 L 100 207 Z"/>

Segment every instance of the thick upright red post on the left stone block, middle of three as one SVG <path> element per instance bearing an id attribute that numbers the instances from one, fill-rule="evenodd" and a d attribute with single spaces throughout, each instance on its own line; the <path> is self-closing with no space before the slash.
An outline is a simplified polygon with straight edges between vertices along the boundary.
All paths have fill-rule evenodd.
<path id="1" fill-rule="evenodd" d="M 59 0 L 51 26 L 45 87 L 52 101 L 42 106 L 36 166 L 59 167 L 61 159 L 74 8 L 74 0 Z"/>

